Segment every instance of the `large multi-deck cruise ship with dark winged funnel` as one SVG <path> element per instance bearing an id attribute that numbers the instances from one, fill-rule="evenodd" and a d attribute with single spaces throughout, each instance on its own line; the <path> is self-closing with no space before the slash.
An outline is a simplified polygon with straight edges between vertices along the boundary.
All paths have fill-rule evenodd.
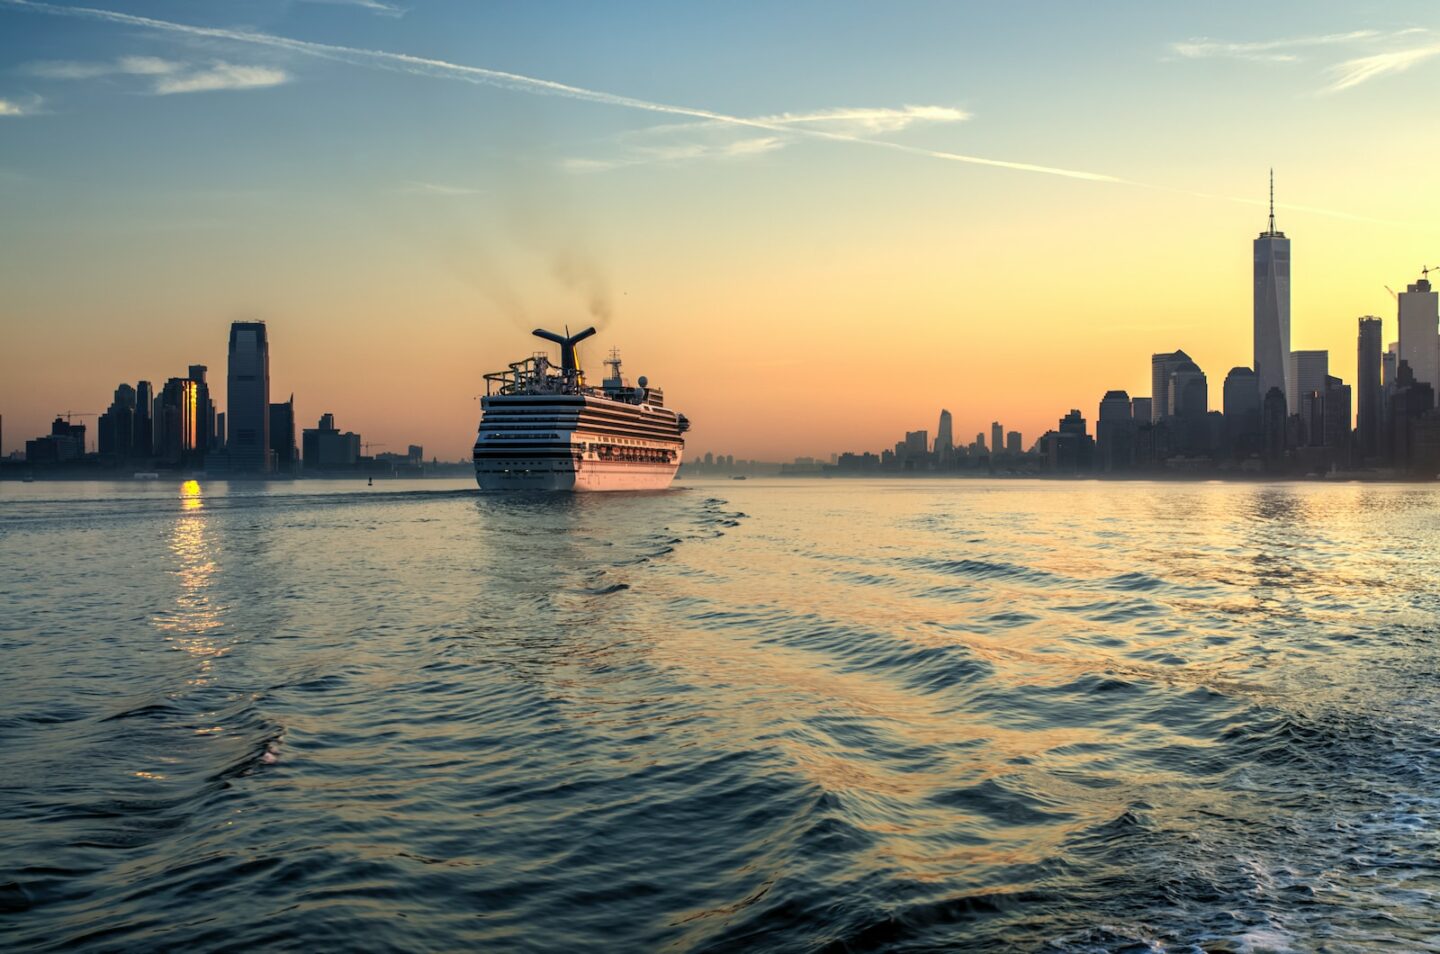
<path id="1" fill-rule="evenodd" d="M 560 346 L 485 375 L 475 480 L 481 490 L 662 490 L 685 450 L 685 415 L 644 378 L 631 386 L 611 352 L 599 388 L 585 383 L 576 346 L 595 334 L 534 336 Z"/>

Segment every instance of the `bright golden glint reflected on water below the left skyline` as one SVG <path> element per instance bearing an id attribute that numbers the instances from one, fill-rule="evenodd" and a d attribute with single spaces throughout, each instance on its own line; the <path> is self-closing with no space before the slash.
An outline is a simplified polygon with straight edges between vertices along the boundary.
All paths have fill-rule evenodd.
<path id="1" fill-rule="evenodd" d="M 187 480 L 180 484 L 180 513 L 170 530 L 170 572 L 177 581 L 174 605 L 157 614 L 154 623 L 166 641 L 199 660 L 192 686 L 209 685 L 215 659 L 229 651 L 215 640 L 222 623 L 212 594 L 217 563 L 207 525 L 200 481 Z"/>

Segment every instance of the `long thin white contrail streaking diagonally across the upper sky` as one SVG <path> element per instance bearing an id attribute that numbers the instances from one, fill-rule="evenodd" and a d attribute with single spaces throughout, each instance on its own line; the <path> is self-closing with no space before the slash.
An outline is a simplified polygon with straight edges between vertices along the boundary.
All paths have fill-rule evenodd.
<path id="1" fill-rule="evenodd" d="M 448 76 L 452 79 L 462 79 L 465 82 L 472 82 L 478 85 L 501 86 L 504 89 L 516 89 L 520 92 L 530 92 L 544 97 L 563 97 L 567 99 L 582 99 L 586 102 L 598 102 L 626 110 L 661 112 L 665 115 L 681 115 L 691 120 L 708 120 L 711 122 L 723 122 L 726 125 L 736 125 L 752 130 L 768 130 L 770 133 L 785 133 L 788 135 L 804 135 L 808 138 L 831 140 L 837 143 L 857 143 L 861 146 L 888 148 L 897 153 L 909 153 L 912 156 L 923 156 L 926 159 L 942 159 L 952 163 L 971 163 L 973 166 L 1014 169 L 1018 171 L 1043 173 L 1047 176 L 1063 176 L 1066 179 L 1084 179 L 1090 182 L 1112 182 L 1112 183 L 1125 182 L 1123 179 L 1119 179 L 1116 176 L 1106 176 L 1102 173 L 1090 173 L 1076 169 L 1058 169 L 1054 166 L 1037 166 L 1034 163 L 1012 163 L 1002 159 L 984 159 L 981 156 L 962 156 L 960 153 L 946 153 L 929 148 L 919 148 L 914 146 L 906 146 L 903 143 L 867 140 L 858 135 L 847 135 L 844 133 L 828 133 L 825 130 L 796 128 L 795 125 L 791 124 L 768 122 L 765 120 L 750 120 L 737 115 L 727 115 L 724 112 L 716 112 L 713 110 L 680 107 L 665 102 L 651 102 L 648 99 L 636 99 L 635 97 L 622 97 L 613 92 L 603 92 L 599 89 L 572 86 L 550 79 L 539 79 L 536 76 L 524 76 L 521 73 L 510 73 L 498 69 L 485 69 L 482 66 L 467 66 L 464 63 L 451 63 L 444 59 L 410 56 L 408 53 L 392 53 L 387 50 L 374 50 L 374 49 L 356 49 L 351 46 L 336 46 L 333 43 L 315 43 L 312 40 L 297 40 L 288 36 L 276 36 L 274 33 L 255 33 L 252 30 L 229 30 L 223 27 L 192 26 L 189 23 L 156 20 L 153 17 L 135 16 L 131 13 L 117 13 L 114 10 L 99 10 L 95 7 L 59 6 L 53 3 L 45 3 L 43 0 L 0 0 L 0 3 L 10 7 L 20 7 L 24 10 L 35 10 L 36 13 L 49 13 L 53 16 L 84 17 L 89 20 L 120 23 L 124 26 L 135 26 L 147 30 L 158 30 L 163 33 L 180 33 L 184 36 L 203 36 L 207 39 L 232 40 L 236 43 L 251 43 L 253 46 L 269 46 L 272 49 L 282 49 L 291 53 L 301 53 L 305 56 L 317 56 L 320 59 L 338 61 L 356 66 L 373 65 L 395 72 L 413 73 L 418 76 Z"/>

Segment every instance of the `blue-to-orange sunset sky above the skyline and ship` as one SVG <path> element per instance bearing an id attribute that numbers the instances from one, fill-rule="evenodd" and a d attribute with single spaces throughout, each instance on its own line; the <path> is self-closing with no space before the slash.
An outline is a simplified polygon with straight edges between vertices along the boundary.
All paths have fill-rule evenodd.
<path id="1" fill-rule="evenodd" d="M 1020 429 L 1251 363 L 1440 265 L 1433 3 L 0 0 L 0 453 L 261 318 L 271 395 L 468 455 L 482 373 L 599 334 L 693 454 Z M 81 418 L 94 422 L 94 418 Z"/>

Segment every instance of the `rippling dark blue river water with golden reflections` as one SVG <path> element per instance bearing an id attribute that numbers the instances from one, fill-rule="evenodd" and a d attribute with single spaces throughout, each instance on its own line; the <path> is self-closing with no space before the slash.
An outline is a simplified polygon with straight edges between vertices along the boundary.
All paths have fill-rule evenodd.
<path id="1" fill-rule="evenodd" d="M 0 947 L 1440 950 L 1437 504 L 0 484 Z"/>

